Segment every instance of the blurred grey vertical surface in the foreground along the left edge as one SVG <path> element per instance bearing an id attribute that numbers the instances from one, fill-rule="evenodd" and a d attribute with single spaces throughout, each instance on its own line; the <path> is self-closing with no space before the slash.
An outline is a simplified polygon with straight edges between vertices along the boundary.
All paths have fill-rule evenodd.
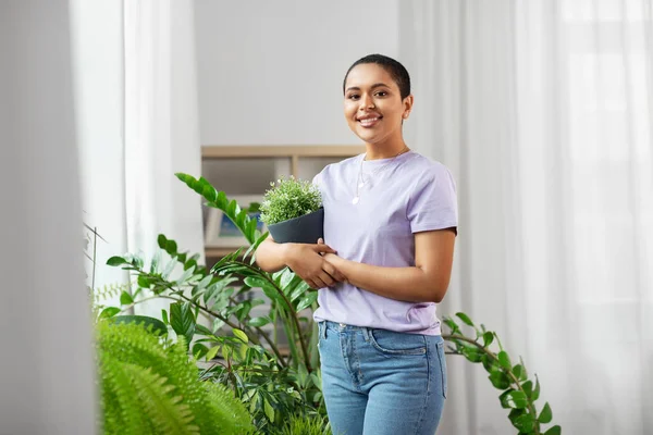
<path id="1" fill-rule="evenodd" d="M 0 2 L 0 434 L 96 433 L 67 0 Z"/>

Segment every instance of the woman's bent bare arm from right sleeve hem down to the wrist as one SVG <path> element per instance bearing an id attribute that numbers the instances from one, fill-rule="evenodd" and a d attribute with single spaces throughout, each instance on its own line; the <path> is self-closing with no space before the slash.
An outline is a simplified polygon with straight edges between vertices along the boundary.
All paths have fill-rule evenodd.
<path id="1" fill-rule="evenodd" d="M 453 229 L 415 234 L 415 266 L 383 268 L 325 253 L 356 287 L 407 302 L 440 302 L 448 287 L 456 235 Z"/>

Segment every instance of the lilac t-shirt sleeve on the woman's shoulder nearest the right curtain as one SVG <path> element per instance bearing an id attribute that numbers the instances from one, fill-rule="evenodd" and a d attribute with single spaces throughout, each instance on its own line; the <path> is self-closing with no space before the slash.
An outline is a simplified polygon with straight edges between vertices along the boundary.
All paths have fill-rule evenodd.
<path id="1" fill-rule="evenodd" d="M 412 233 L 453 227 L 457 234 L 456 183 L 446 166 L 433 165 L 418 177 L 406 214 Z"/>

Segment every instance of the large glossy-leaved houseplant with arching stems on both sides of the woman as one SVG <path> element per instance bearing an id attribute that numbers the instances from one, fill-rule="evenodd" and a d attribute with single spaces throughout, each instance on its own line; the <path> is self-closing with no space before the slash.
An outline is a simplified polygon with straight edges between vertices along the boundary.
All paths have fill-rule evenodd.
<path id="1" fill-rule="evenodd" d="M 284 433 L 288 422 L 299 420 L 317 422 L 319 431 L 328 433 L 317 325 L 311 315 L 303 315 L 305 309 L 317 308 L 317 293 L 288 269 L 270 274 L 256 265 L 256 249 L 268 235 L 260 234 L 257 221 L 249 219 L 246 210 L 205 178 L 176 176 L 207 206 L 222 210 L 250 247 L 222 258 L 208 271 L 197 263 L 198 256 L 181 252 L 174 240 L 160 235 L 161 252 L 149 265 L 131 254 L 109 260 L 110 265 L 133 272 L 135 290 L 123 291 L 122 306 L 107 307 L 103 313 L 114 315 L 149 298 L 171 300 L 162 320 L 185 341 L 193 340 L 194 357 L 209 364 L 201 378 L 232 388 L 251 412 L 259 433 Z M 171 276 L 178 266 L 183 272 Z M 270 307 L 267 315 L 251 315 L 255 306 L 266 302 L 249 298 L 251 288 L 261 288 L 266 295 Z M 210 321 L 210 327 L 201 324 L 202 318 L 205 324 Z M 287 337 L 287 352 L 280 347 L 278 324 Z M 494 332 L 477 325 L 465 313 L 445 318 L 444 324 L 447 353 L 482 364 L 492 385 L 501 390 L 500 403 L 509 410 L 508 418 L 520 435 L 560 433 L 557 425 L 544 430 L 552 412 L 549 403 L 538 410 L 537 376 L 529 376 L 523 362 L 512 361 Z M 272 332 L 267 330 L 270 326 Z"/>

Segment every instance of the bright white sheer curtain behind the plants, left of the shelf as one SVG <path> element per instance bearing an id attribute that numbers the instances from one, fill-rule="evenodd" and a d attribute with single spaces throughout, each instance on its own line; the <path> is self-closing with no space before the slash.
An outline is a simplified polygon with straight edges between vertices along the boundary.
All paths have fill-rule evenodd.
<path id="1" fill-rule="evenodd" d="M 194 4 L 87 3 L 72 1 L 84 204 L 108 240 L 99 263 L 124 252 L 150 258 L 160 233 L 204 261 L 200 199 L 174 176 L 201 170 Z M 96 286 L 125 278 L 116 273 L 100 265 Z M 137 311 L 158 316 L 165 306 Z"/>

